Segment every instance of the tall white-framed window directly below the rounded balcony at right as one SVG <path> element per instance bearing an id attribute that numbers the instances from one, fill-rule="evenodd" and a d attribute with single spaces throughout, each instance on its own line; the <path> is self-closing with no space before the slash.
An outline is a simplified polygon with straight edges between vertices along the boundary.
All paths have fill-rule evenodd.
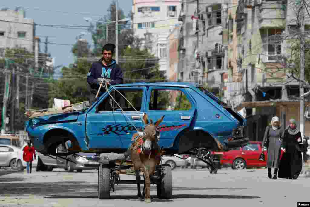
<path id="1" fill-rule="evenodd" d="M 266 29 L 268 61 L 276 60 L 276 55 L 282 53 L 281 33 L 283 29 Z"/>

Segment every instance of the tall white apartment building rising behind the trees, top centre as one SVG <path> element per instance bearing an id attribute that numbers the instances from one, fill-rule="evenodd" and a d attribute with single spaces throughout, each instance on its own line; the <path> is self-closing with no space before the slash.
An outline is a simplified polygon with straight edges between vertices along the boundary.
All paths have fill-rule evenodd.
<path id="1" fill-rule="evenodd" d="M 167 37 L 179 24 L 179 0 L 133 0 L 133 28 L 135 35 L 144 38 L 143 46 L 159 58 L 160 70 L 169 68 Z"/>

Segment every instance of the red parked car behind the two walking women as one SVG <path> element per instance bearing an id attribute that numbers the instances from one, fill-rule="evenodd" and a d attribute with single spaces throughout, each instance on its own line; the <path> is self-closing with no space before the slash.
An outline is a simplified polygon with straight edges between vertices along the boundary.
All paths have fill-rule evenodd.
<path id="1" fill-rule="evenodd" d="M 260 161 L 262 142 L 250 141 L 246 146 L 223 152 L 221 165 L 231 166 L 232 169 L 245 169 L 247 167 L 265 167 L 266 161 Z M 267 151 L 264 151 L 267 160 Z"/>

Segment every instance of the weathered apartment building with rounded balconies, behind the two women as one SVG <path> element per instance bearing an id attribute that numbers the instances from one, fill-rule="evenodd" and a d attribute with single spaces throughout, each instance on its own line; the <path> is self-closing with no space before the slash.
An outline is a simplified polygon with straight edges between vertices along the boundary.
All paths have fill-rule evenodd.
<path id="1" fill-rule="evenodd" d="M 236 110 L 246 112 L 248 136 L 261 141 L 266 126 L 278 116 L 284 127 L 290 118 L 299 121 L 299 82 L 287 78 L 285 59 L 290 57 L 290 42 L 281 34 L 293 34 L 296 16 L 293 1 L 227 2 L 227 28 L 223 29 L 227 45 L 228 100 Z M 232 7 L 229 5 L 237 5 Z M 307 13 L 307 12 L 306 12 Z M 305 19 L 305 31 L 310 21 Z M 309 30 L 308 30 L 309 31 Z M 226 54 L 226 53 L 225 53 Z M 305 122 L 305 135 L 310 135 Z"/>

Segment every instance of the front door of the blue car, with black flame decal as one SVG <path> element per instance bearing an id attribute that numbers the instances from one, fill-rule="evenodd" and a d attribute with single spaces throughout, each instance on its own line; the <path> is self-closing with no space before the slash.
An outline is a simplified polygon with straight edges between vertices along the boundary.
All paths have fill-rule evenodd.
<path id="1" fill-rule="evenodd" d="M 129 147 L 136 128 L 142 126 L 145 91 L 146 87 L 120 87 L 110 91 L 112 97 L 104 95 L 96 109 L 87 114 L 89 148 Z"/>

